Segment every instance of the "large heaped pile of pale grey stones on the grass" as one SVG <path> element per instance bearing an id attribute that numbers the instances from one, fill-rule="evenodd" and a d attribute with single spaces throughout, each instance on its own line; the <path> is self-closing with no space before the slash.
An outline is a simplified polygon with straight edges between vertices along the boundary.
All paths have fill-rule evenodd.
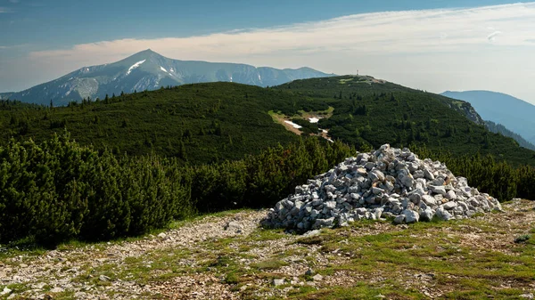
<path id="1" fill-rule="evenodd" d="M 387 217 L 394 223 L 435 216 L 448 221 L 491 210 L 501 211 L 497 199 L 471 188 L 440 161 L 385 144 L 295 187 L 295 194 L 269 210 L 263 224 L 309 231 Z"/>

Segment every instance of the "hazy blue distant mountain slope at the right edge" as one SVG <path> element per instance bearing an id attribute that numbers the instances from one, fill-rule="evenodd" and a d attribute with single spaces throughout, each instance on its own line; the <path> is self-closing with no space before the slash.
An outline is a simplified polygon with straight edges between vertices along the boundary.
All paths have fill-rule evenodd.
<path id="1" fill-rule="evenodd" d="M 535 105 L 505 93 L 489 91 L 448 91 L 442 95 L 470 102 L 485 120 L 502 124 L 535 143 Z"/>

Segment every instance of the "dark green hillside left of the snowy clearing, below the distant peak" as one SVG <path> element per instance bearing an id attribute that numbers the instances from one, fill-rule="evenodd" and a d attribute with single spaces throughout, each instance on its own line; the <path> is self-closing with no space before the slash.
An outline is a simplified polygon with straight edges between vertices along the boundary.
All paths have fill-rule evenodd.
<path id="1" fill-rule="evenodd" d="M 269 117 L 273 108 L 294 114 L 326 105 L 292 93 L 231 83 L 109 95 L 102 101 L 58 108 L 1 101 L 0 142 L 11 137 L 45 141 L 67 129 L 74 140 L 96 149 L 208 163 L 298 141 Z"/>

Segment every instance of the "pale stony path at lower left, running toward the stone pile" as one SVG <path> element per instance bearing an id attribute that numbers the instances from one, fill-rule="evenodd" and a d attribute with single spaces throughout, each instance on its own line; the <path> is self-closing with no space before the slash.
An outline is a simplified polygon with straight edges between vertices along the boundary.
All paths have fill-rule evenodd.
<path id="1" fill-rule="evenodd" d="M 150 284 L 133 280 L 112 280 L 112 276 L 98 275 L 103 267 L 114 266 L 115 271 L 128 259 L 150 257 L 161 250 L 199 247 L 204 241 L 247 236 L 254 231 L 265 212 L 237 213 L 224 217 L 206 217 L 166 231 L 157 237 L 122 242 L 104 243 L 69 250 L 46 251 L 43 255 L 17 255 L 0 263 L 0 287 L 16 285 L 26 289 L 12 298 L 46 299 L 48 296 L 69 296 L 77 299 L 130 299 L 153 294 Z M 227 228 L 228 223 L 237 224 Z M 150 262 L 146 262 L 147 266 Z M 151 267 L 147 267 L 151 269 Z M 94 273 L 92 275 L 92 273 Z M 205 277 L 204 281 L 213 280 Z M 191 286 L 183 279 L 177 288 Z M 202 280 L 200 280 L 202 281 Z M 216 287 L 214 287 L 216 288 Z M 219 288 L 218 288 L 219 290 Z M 0 292 L 2 292 L 0 290 Z M 2 298 L 2 296 L 0 296 Z"/>

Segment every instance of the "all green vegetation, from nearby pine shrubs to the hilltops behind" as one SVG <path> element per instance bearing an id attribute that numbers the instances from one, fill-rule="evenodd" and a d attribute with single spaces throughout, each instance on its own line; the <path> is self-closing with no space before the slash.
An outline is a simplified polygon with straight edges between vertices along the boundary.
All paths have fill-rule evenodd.
<path id="1" fill-rule="evenodd" d="M 535 199 L 535 152 L 474 124 L 464 102 L 361 79 L 182 85 L 60 108 L 0 101 L 0 242 L 116 239 L 198 212 L 271 207 L 386 142 L 500 200 Z M 318 111 L 345 144 L 274 122 L 292 116 L 313 133 L 302 118 Z"/>

